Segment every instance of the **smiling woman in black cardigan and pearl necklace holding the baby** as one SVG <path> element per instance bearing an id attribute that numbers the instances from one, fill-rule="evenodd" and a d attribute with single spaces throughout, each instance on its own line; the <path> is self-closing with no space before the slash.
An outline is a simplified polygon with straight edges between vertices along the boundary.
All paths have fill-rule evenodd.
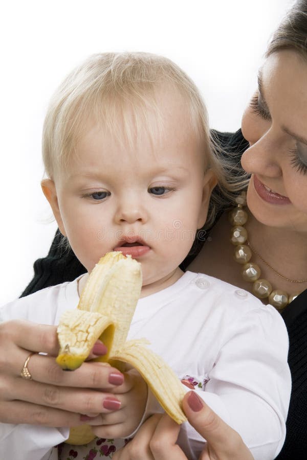
<path id="1" fill-rule="evenodd" d="M 269 281 L 273 290 L 279 288 L 287 293 L 288 297 L 278 292 L 271 296 L 270 302 L 276 306 L 288 302 L 289 295 L 295 296 L 305 290 L 282 313 L 290 334 L 289 359 L 293 374 L 293 394 L 287 439 L 278 456 L 279 459 L 303 458 L 303 452 L 307 447 L 304 429 L 307 416 L 304 413 L 307 411 L 304 409 L 307 408 L 304 391 L 307 389 L 307 369 L 304 369 L 306 345 L 303 340 L 304 321 L 307 319 L 307 311 L 303 305 L 303 300 L 307 297 L 307 255 L 304 254 L 307 229 L 307 179 L 304 176 L 307 167 L 307 146 L 303 141 L 304 127 L 307 124 L 304 109 L 307 106 L 307 61 L 304 60 L 307 56 L 306 37 L 307 2 L 299 0 L 269 46 L 266 63 L 260 72 L 259 92 L 253 98 L 252 105 L 247 108 L 242 125 L 243 134 L 251 146 L 244 153 L 242 160 L 243 167 L 252 174 L 247 193 L 249 220 L 246 225 L 244 224 L 248 232 L 251 262 L 261 268 L 261 279 Z M 223 139 L 226 150 L 228 147 L 237 149 L 245 145 L 240 132 L 233 136 L 222 135 L 220 139 Z M 196 271 L 206 269 L 208 274 L 251 290 L 253 283 L 242 278 L 240 265 L 233 261 L 233 247 L 228 237 L 231 225 L 226 216 L 225 212 L 222 213 L 211 229 L 210 239 L 207 239 L 199 256 L 189 268 Z M 240 232 L 244 233 L 241 229 L 236 233 Z M 237 258 L 248 257 L 248 249 L 240 248 Z M 75 279 L 83 272 L 83 267 L 76 261 L 72 252 L 63 251 L 57 235 L 48 258 L 36 261 L 36 277 L 25 294 Z M 254 266 L 246 269 L 245 277 L 257 276 L 257 270 Z M 268 293 L 270 285 L 258 282 L 254 289 L 258 295 L 262 295 L 263 291 Z M 267 303 L 266 298 L 264 302 Z M 82 374 L 81 366 L 78 376 L 75 373 L 62 376 L 51 357 L 57 353 L 55 328 L 42 327 L 39 337 L 35 331 L 36 326 L 31 324 L 16 323 L 10 324 L 9 327 L 0 325 L 0 346 L 5 344 L 11 352 L 9 361 L 3 357 L 0 362 L 2 394 L 5 395 L 0 404 L 0 420 L 7 423 L 29 423 L 34 418 L 39 423 L 51 426 L 63 426 L 63 421 L 67 426 L 79 424 L 77 413 L 67 410 L 73 398 L 67 387 L 88 386 L 89 374 Z M 27 386 L 26 380 L 16 379 L 30 351 L 45 351 L 51 355 L 44 360 L 43 365 L 38 355 L 32 356 L 29 363 L 28 369 L 33 379 L 43 383 L 36 397 L 29 395 L 32 390 Z M 86 370 L 87 372 L 89 371 Z M 109 376 L 106 370 L 101 370 L 100 373 L 99 380 L 107 384 Z M 94 374 L 93 371 L 93 381 L 97 380 L 97 375 Z M 56 390 L 51 385 L 56 385 Z M 39 401 L 43 405 L 39 404 Z M 185 408 L 191 423 L 195 423 L 196 428 L 208 440 L 210 456 L 207 458 L 250 458 L 243 442 L 229 427 L 220 423 L 210 409 L 199 411 L 202 415 L 200 422 L 198 411 L 189 412 L 187 400 Z M 149 420 L 148 423 L 150 422 L 153 426 L 158 423 L 157 430 L 163 424 L 162 431 L 168 432 L 166 428 L 169 422 L 165 417 L 159 421 Z M 212 426 L 217 428 L 212 431 Z M 148 428 L 149 432 L 150 429 L 152 428 Z M 169 430 L 175 439 L 174 428 L 170 426 Z M 161 432 L 161 429 L 157 432 Z M 216 444 L 216 437 L 222 441 Z M 165 438 L 166 436 L 163 439 Z M 155 439 L 157 436 L 153 437 L 153 440 Z M 167 458 L 171 459 L 171 441 L 167 443 L 165 440 L 162 448 L 157 448 L 157 445 L 152 443 L 153 441 L 148 458 L 155 458 L 153 455 L 158 451 L 156 458 L 161 459 L 166 453 Z M 181 453 L 176 451 L 173 458 L 180 458 L 179 454 Z"/>

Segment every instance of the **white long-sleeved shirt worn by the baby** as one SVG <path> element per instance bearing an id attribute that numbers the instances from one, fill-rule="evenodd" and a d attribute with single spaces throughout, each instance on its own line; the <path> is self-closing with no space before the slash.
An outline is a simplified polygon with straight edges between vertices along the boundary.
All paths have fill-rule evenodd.
<path id="1" fill-rule="evenodd" d="M 77 281 L 7 304 L 0 319 L 56 325 L 78 304 Z M 239 432 L 255 460 L 275 458 L 286 435 L 291 380 L 286 326 L 273 307 L 221 280 L 186 272 L 172 286 L 139 300 L 128 339 L 142 337 L 180 379 L 197 383 L 198 394 Z M 146 416 L 161 410 L 149 395 Z M 68 433 L 0 424 L 0 451 L 7 460 L 57 459 L 52 447 Z M 185 423 L 179 444 L 188 458 L 197 459 L 204 440 Z"/>

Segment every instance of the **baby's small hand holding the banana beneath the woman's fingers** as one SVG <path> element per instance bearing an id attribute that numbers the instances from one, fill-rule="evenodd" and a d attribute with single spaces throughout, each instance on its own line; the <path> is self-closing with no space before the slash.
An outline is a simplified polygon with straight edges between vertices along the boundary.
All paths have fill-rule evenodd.
<path id="1" fill-rule="evenodd" d="M 101 413 L 86 421 L 99 438 L 126 438 L 142 420 L 147 402 L 147 384 L 135 369 L 124 373 L 124 376 L 124 383 L 112 390 L 115 395 L 114 401 L 109 399 L 112 412 Z M 120 401 L 119 409 L 116 399 Z"/>

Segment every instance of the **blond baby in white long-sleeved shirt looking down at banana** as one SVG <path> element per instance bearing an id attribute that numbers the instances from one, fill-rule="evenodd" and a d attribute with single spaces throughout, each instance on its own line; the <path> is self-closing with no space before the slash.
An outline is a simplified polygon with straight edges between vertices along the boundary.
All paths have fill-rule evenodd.
<path id="1" fill-rule="evenodd" d="M 248 292 L 179 268 L 206 222 L 216 182 L 223 182 L 193 82 L 160 56 L 90 57 L 52 99 L 43 161 L 43 193 L 87 272 L 113 250 L 141 263 L 142 298 L 128 339 L 147 338 L 178 378 L 239 432 L 255 459 L 275 457 L 284 441 L 291 387 L 281 317 Z M 63 311 L 76 308 L 88 273 L 5 306 L 2 318 L 57 324 Z M 100 439 L 61 445 L 59 458 L 111 456 L 151 413 L 161 411 L 134 370 L 124 378 L 102 416 L 101 410 L 82 416 Z M 69 430 L 45 428 L 45 447 L 36 451 L 37 429 L 20 427 L 20 458 L 57 458 L 53 447 Z M 188 458 L 198 458 L 205 441 L 186 423 L 178 442 Z M 6 458 L 12 458 L 9 452 Z"/>

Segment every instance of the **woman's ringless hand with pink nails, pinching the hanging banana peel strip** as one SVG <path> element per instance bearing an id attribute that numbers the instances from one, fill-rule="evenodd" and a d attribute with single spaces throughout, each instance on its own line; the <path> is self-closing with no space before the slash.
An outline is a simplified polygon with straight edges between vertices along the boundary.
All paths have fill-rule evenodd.
<path id="1" fill-rule="evenodd" d="M 253 460 L 239 434 L 194 391 L 186 394 L 183 408 L 189 423 L 207 440 L 200 460 Z M 187 460 L 176 444 L 179 430 L 180 426 L 167 415 L 152 416 L 113 460 Z"/>

